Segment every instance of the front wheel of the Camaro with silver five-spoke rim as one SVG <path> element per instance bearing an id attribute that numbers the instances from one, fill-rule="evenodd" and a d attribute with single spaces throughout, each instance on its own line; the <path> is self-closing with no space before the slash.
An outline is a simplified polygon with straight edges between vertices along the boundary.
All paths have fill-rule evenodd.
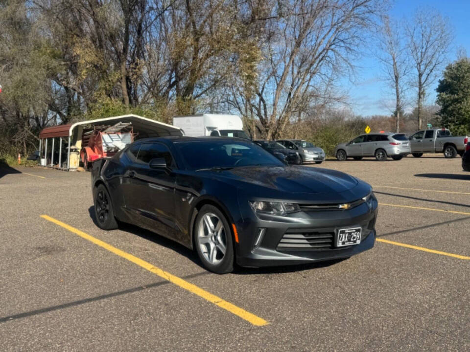
<path id="1" fill-rule="evenodd" d="M 204 267 L 225 274 L 234 270 L 232 230 L 222 212 L 213 205 L 204 205 L 194 224 L 194 246 Z"/>

